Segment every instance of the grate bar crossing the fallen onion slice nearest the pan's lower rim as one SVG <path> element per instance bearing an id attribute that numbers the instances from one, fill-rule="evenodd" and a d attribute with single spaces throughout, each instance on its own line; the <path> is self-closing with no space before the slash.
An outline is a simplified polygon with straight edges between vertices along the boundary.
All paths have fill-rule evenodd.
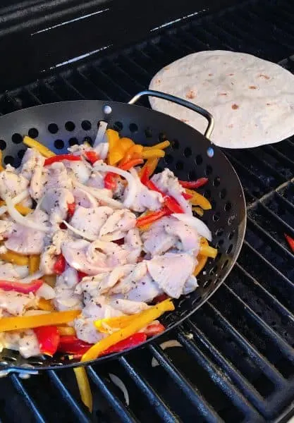
<path id="1" fill-rule="evenodd" d="M 216 414 L 201 394 L 190 385 L 188 380 L 180 374 L 171 360 L 169 360 L 169 357 L 167 357 L 157 345 L 149 345 L 149 350 L 151 350 L 152 355 L 154 355 L 159 364 L 161 364 L 173 381 L 180 387 L 180 390 L 185 393 L 185 396 L 187 396 L 192 405 L 197 408 L 198 412 L 204 417 L 207 423 L 223 422 L 219 415 Z"/>

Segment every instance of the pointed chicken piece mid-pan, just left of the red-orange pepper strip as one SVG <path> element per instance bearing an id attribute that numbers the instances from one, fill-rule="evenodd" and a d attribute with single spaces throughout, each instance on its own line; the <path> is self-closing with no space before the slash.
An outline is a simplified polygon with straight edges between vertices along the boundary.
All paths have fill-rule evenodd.
<path id="1" fill-rule="evenodd" d="M 102 228 L 100 229 L 99 236 L 102 237 L 108 233 L 114 233 L 116 231 L 126 232 L 130 229 L 135 228 L 136 216 L 128 209 L 116 210 L 106 220 Z"/>

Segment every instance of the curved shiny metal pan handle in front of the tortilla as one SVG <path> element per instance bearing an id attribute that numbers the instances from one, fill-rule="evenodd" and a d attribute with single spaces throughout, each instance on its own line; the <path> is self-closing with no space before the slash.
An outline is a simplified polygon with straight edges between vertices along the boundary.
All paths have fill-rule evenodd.
<path id="1" fill-rule="evenodd" d="M 190 102 L 187 102 L 186 100 L 180 99 L 179 97 L 175 97 L 171 94 L 166 94 L 165 92 L 160 91 L 153 91 L 153 90 L 145 90 L 138 92 L 133 99 L 130 99 L 128 104 L 135 104 L 141 97 L 144 95 L 147 95 L 149 97 L 158 97 L 159 99 L 168 100 L 169 102 L 173 102 L 176 104 L 179 104 L 179 106 L 187 107 L 187 109 L 190 109 L 192 111 L 195 111 L 198 114 L 201 114 L 204 118 L 206 118 L 208 125 L 204 132 L 204 136 L 209 139 L 210 135 L 212 135 L 212 131 L 214 130 L 214 118 L 209 113 L 209 111 L 202 109 L 202 107 L 197 106 L 196 104 L 192 104 Z"/>

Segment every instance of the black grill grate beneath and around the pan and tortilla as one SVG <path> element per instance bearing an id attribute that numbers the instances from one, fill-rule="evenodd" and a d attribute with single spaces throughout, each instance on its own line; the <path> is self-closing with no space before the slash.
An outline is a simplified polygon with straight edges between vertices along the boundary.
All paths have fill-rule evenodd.
<path id="1" fill-rule="evenodd" d="M 70 99 L 127 102 L 159 68 L 203 49 L 245 51 L 294 71 L 293 17 L 293 2 L 250 1 L 185 20 L 141 44 L 5 92 L 0 112 Z M 71 369 L 0 379 L 3 422 L 262 423 L 292 415 L 294 256 L 283 233 L 294 237 L 294 140 L 225 154 L 245 190 L 247 234 L 226 283 L 159 341 L 176 339 L 183 348 L 163 352 L 153 343 L 88 367 L 93 415 L 79 399 Z M 159 366 L 151 367 L 152 357 Z M 109 373 L 125 383 L 129 406 Z"/>

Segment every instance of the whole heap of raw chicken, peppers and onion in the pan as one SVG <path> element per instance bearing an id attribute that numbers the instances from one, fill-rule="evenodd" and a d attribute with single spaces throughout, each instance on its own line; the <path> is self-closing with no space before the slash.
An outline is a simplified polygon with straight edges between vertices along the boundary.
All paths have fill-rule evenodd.
<path id="1" fill-rule="evenodd" d="M 24 138 L 0 172 L 0 347 L 90 360 L 164 331 L 171 299 L 197 288 L 210 247 L 197 218 L 206 178 L 154 173 L 169 142 L 106 130 L 55 155 Z"/>

